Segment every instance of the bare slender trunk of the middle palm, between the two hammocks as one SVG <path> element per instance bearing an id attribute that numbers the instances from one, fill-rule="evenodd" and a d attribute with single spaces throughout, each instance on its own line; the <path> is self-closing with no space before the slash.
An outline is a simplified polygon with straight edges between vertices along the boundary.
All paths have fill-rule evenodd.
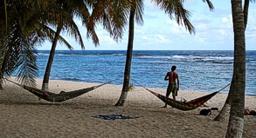
<path id="1" fill-rule="evenodd" d="M 124 70 L 123 85 L 121 89 L 121 96 L 115 106 L 123 106 L 128 95 L 129 76 L 131 72 L 131 62 L 133 57 L 134 46 L 134 33 L 135 33 L 135 7 L 131 8 L 129 16 L 129 33 L 128 33 L 128 50 L 126 56 L 126 64 Z"/>

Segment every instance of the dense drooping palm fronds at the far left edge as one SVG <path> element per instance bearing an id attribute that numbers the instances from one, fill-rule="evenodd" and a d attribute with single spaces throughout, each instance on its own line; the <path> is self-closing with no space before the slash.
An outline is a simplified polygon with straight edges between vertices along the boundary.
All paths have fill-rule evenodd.
<path id="1" fill-rule="evenodd" d="M 16 69 L 19 81 L 35 85 L 38 69 L 35 46 L 45 41 L 38 36 L 40 23 L 36 11 L 44 9 L 45 1 L 1 1 L 0 6 L 2 15 L 8 11 L 8 18 L 0 19 L 0 87 L 3 89 L 3 76 L 10 76 Z"/>

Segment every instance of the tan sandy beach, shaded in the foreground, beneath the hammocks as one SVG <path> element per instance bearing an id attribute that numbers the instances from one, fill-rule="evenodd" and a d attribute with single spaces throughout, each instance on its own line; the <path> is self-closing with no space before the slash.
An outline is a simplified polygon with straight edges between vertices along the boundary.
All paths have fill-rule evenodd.
<path id="1" fill-rule="evenodd" d="M 42 80 L 37 79 L 38 88 Z M 50 81 L 50 91 L 59 93 L 85 89 L 97 83 Z M 121 95 L 121 86 L 107 84 L 61 103 L 38 101 L 36 95 L 6 82 L 6 90 L 0 97 L 0 137 L 225 137 L 226 122 L 214 122 L 212 115 L 203 116 L 203 108 L 181 111 L 176 108 L 161 108 L 163 102 L 142 87 L 135 87 L 128 92 L 125 106 L 114 104 Z M 148 88 L 165 95 L 165 89 Z M 213 89 L 212 92 L 221 88 Z M 229 89 L 229 88 L 228 88 Z M 177 99 L 188 101 L 208 95 L 209 92 L 187 91 L 181 89 Z M 222 108 L 226 94 L 219 93 L 205 104 L 206 108 Z M 256 109 L 256 96 L 246 95 L 246 108 Z M 204 107 L 205 108 L 205 107 Z M 135 119 L 104 120 L 93 115 L 127 115 Z M 245 116 L 243 137 L 256 137 L 256 118 Z"/>

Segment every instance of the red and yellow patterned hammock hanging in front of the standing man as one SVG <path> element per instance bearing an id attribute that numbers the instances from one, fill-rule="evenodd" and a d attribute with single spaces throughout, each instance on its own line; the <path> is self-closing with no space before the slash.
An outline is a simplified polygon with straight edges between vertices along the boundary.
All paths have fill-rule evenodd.
<path id="1" fill-rule="evenodd" d="M 140 84 L 140 83 L 138 83 L 138 84 Z M 142 84 L 140 84 L 140 85 L 142 86 Z M 227 84 L 223 89 L 225 89 L 229 85 L 230 84 Z M 142 87 L 144 89 L 147 89 L 144 86 L 142 86 Z M 156 92 L 154 92 L 154 91 L 152 91 L 150 89 L 147 89 L 147 90 L 150 93 L 152 93 L 153 95 L 156 95 L 160 100 L 162 100 L 166 104 L 170 105 L 171 107 L 177 108 L 177 109 L 180 109 L 180 110 L 183 110 L 183 111 L 189 111 L 189 110 L 192 110 L 192 109 L 200 107 L 201 105 L 204 104 L 204 102 L 207 102 L 208 100 L 210 100 L 211 97 L 213 97 L 214 95 L 218 94 L 218 92 L 220 92 L 223 89 L 219 89 L 218 91 L 216 91 L 214 93 L 211 93 L 210 95 L 204 95 L 204 96 L 199 97 L 197 99 L 191 100 L 190 102 L 176 101 L 176 100 L 170 99 L 170 98 L 168 98 L 168 97 L 166 97 L 164 95 L 157 94 Z"/>

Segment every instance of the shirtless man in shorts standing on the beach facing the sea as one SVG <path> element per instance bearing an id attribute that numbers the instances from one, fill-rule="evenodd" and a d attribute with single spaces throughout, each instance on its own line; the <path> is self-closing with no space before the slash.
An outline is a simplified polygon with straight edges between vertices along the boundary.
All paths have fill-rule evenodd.
<path id="1" fill-rule="evenodd" d="M 171 71 L 167 72 L 166 76 L 164 77 L 164 81 L 169 80 L 168 88 L 166 90 L 166 96 L 169 97 L 170 93 L 172 93 L 172 97 L 176 100 L 177 91 L 179 90 L 179 79 L 178 74 L 175 72 L 176 66 L 171 67 Z M 167 108 L 167 104 L 163 106 L 163 108 Z"/>

